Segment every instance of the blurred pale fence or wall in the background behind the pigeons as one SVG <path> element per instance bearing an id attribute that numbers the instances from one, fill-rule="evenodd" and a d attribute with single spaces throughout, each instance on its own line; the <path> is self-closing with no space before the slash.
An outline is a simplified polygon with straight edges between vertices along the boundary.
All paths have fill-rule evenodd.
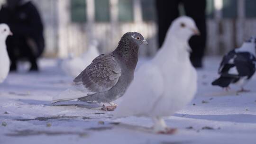
<path id="1" fill-rule="evenodd" d="M 157 51 L 155 0 L 31 1 L 44 24 L 45 57 L 82 54 L 93 39 L 99 42 L 100 53 L 108 53 L 128 31 L 140 32 L 148 40 L 140 55 Z M 185 14 L 182 4 L 179 10 Z M 206 55 L 224 54 L 256 35 L 256 0 L 207 0 L 206 17 Z"/>

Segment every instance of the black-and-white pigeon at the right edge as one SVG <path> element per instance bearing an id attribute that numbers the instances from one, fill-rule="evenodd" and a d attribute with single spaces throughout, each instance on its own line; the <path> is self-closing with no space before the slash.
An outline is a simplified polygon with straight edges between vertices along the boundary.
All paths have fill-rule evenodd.
<path id="1" fill-rule="evenodd" d="M 238 84 L 239 91 L 248 91 L 243 87 L 256 71 L 256 37 L 252 36 L 240 48 L 226 54 L 219 66 L 219 79 L 212 85 L 228 89 L 229 84 Z"/>

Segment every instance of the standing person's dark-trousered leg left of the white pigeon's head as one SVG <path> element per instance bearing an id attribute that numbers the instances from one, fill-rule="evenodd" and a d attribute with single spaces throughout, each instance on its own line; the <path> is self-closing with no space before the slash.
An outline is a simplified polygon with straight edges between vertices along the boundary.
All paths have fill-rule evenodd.
<path id="1" fill-rule="evenodd" d="M 158 22 L 158 46 L 163 45 L 165 35 L 172 21 L 179 16 L 180 0 L 155 0 Z"/>

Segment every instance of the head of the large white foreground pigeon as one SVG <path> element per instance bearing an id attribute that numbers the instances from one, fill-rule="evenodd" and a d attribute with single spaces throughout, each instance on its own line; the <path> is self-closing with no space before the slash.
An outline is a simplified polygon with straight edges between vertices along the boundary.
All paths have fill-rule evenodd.
<path id="1" fill-rule="evenodd" d="M 188 41 L 191 36 L 200 35 L 200 32 L 192 18 L 182 16 L 173 21 L 167 35 L 169 34 L 174 35 L 181 41 Z"/>

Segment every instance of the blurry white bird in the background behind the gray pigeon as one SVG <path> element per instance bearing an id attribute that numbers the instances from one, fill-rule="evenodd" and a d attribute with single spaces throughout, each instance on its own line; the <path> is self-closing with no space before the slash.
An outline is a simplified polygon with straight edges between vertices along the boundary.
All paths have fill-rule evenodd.
<path id="1" fill-rule="evenodd" d="M 91 64 L 92 60 L 99 55 L 98 42 L 93 40 L 89 45 L 88 50 L 80 57 L 75 57 L 70 53 L 67 59 L 61 63 L 61 69 L 69 76 L 78 76 L 85 67 Z"/>

